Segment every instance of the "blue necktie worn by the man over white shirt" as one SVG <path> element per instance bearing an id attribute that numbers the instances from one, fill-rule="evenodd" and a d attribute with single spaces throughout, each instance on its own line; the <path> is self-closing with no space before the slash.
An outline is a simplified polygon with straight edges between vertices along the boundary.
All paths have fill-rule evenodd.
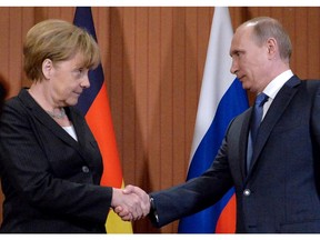
<path id="1" fill-rule="evenodd" d="M 248 144 L 248 154 L 247 154 L 247 170 L 249 171 L 251 166 L 251 159 L 253 153 L 253 147 L 257 139 L 257 133 L 261 123 L 262 114 L 263 114 L 263 104 L 268 101 L 269 97 L 261 92 L 257 96 L 256 102 L 253 106 L 253 112 L 252 112 L 252 119 L 251 119 L 251 127 L 250 127 L 250 133 L 251 133 L 251 141 L 249 139 Z"/>

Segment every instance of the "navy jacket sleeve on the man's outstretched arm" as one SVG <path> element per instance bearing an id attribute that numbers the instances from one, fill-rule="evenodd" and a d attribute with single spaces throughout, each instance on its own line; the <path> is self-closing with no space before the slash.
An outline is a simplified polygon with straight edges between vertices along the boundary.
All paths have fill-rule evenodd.
<path id="1" fill-rule="evenodd" d="M 232 187 L 227 152 L 228 143 L 224 139 L 212 166 L 202 176 L 177 187 L 152 192 L 150 196 L 158 214 L 158 218 L 150 216 L 152 224 L 162 227 L 220 200 Z"/>

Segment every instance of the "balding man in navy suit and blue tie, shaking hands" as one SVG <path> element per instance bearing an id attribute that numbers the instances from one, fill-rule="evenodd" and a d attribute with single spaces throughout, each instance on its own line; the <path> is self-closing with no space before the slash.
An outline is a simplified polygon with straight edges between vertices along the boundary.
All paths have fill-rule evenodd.
<path id="1" fill-rule="evenodd" d="M 162 227 L 214 204 L 234 186 L 237 232 L 320 232 L 319 81 L 292 73 L 290 39 L 271 18 L 241 24 L 230 56 L 242 87 L 267 96 L 260 127 L 253 128 L 253 107 L 234 118 L 202 176 L 150 194 L 153 223 Z"/>

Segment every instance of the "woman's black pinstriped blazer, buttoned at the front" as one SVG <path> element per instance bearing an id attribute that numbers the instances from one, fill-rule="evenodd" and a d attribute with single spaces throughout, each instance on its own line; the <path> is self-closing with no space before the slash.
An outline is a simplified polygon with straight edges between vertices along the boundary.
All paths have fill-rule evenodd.
<path id="1" fill-rule="evenodd" d="M 112 190 L 99 187 L 102 158 L 84 118 L 66 108 L 70 137 L 26 89 L 0 128 L 2 232 L 106 232 Z"/>

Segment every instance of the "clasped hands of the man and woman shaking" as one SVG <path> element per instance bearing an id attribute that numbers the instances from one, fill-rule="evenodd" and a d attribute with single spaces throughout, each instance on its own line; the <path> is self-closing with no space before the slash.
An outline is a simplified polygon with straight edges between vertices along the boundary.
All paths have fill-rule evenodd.
<path id="1" fill-rule="evenodd" d="M 149 214 L 150 198 L 139 187 L 113 188 L 111 207 L 123 221 L 136 221 Z"/>

